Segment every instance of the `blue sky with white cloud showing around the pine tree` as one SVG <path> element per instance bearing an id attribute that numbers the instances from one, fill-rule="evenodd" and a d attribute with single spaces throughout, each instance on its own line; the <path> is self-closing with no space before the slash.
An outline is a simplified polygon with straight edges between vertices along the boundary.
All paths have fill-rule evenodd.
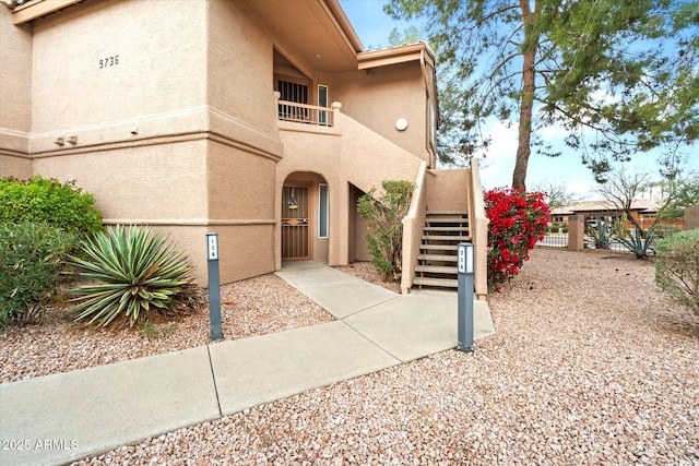
<path id="1" fill-rule="evenodd" d="M 387 46 L 389 33 L 398 27 L 404 28 L 407 24 L 393 21 L 382 7 L 384 0 L 340 0 L 350 22 L 354 26 L 365 48 Z M 437 71 L 439 80 L 439 70 Z M 514 169 L 514 154 L 517 152 L 517 124 L 507 128 L 500 122 L 494 122 L 489 128 L 493 135 L 493 144 L 487 157 L 481 162 L 481 174 L 486 189 L 510 186 L 512 170 Z M 565 138 L 562 130 L 552 127 L 543 131 L 546 139 L 552 142 Z M 562 147 L 562 143 L 561 143 Z M 699 162 L 695 162 L 699 169 Z M 655 156 L 641 154 L 632 160 L 632 166 L 626 167 L 639 172 L 657 172 Z M 550 158 L 532 154 L 529 162 L 526 186 L 533 189 L 550 183 L 565 183 L 567 190 L 578 194 L 582 199 L 599 198 L 595 193 L 596 183 L 590 170 L 580 162 L 577 153 L 564 153 L 559 157 Z"/>

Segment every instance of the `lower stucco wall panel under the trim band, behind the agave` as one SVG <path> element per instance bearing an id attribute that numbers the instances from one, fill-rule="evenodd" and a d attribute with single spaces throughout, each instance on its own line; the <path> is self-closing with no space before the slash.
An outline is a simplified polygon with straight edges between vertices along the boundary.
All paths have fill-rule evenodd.
<path id="1" fill-rule="evenodd" d="M 191 222 L 206 217 L 204 140 L 88 152 L 35 160 L 36 172 L 75 180 L 105 220 Z"/>

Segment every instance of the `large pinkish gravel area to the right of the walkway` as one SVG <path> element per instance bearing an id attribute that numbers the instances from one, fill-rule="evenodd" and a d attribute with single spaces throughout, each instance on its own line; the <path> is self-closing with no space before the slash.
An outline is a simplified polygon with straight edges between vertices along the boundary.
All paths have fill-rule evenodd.
<path id="1" fill-rule="evenodd" d="M 653 264 L 535 250 L 497 334 L 75 464 L 698 465 L 699 322 Z"/>

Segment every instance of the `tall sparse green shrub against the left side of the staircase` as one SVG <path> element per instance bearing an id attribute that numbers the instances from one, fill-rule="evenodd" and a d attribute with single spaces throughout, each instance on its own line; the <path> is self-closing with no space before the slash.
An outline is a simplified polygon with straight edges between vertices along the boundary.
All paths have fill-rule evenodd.
<path id="1" fill-rule="evenodd" d="M 382 181 L 383 195 L 371 189 L 357 201 L 357 214 L 367 222 L 366 235 L 371 263 L 386 277 L 400 279 L 403 254 L 403 217 L 407 214 L 415 184 Z"/>

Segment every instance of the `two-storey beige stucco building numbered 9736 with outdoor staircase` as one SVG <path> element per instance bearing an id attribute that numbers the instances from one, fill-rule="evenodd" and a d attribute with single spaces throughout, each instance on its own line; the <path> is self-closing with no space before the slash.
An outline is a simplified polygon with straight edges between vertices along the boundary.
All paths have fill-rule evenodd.
<path id="1" fill-rule="evenodd" d="M 169 231 L 200 278 L 216 231 L 224 283 L 369 260 L 356 200 L 411 180 L 404 291 L 451 266 L 424 260 L 428 211 L 464 212 L 485 296 L 477 167 L 436 170 L 427 45 L 365 51 L 336 0 L 2 2 L 0 176 L 76 180 L 106 224 Z"/>

